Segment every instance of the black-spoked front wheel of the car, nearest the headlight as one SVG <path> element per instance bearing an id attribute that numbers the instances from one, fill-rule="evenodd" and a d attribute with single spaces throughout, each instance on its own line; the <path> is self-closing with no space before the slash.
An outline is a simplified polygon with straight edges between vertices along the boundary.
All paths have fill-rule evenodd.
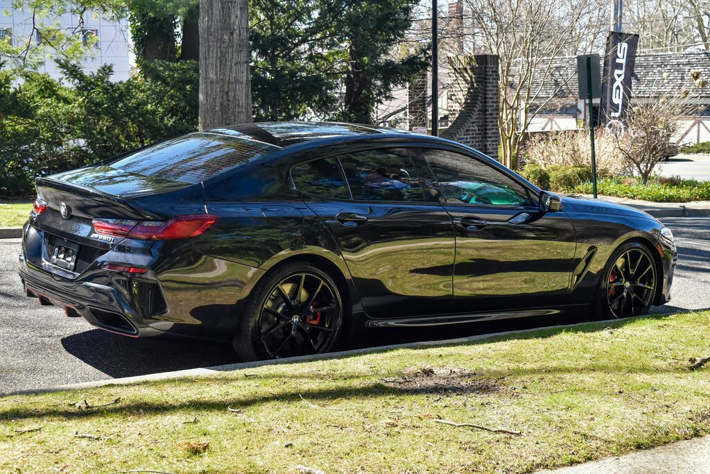
<path id="1" fill-rule="evenodd" d="M 621 245 L 602 274 L 599 306 L 605 316 L 632 318 L 648 313 L 656 295 L 657 265 L 638 242 Z"/>

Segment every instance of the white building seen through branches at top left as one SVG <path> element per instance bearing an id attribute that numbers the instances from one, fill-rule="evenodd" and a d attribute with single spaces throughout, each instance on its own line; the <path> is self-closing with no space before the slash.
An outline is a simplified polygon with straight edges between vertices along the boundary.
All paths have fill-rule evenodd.
<path id="1" fill-rule="evenodd" d="M 9 14 L 9 15 L 8 15 Z M 79 28 L 80 18 L 75 14 L 64 14 L 56 18 L 35 18 L 36 23 L 42 21 L 45 26 L 59 27 L 67 31 L 77 31 L 84 39 L 95 36 L 97 43 L 91 48 L 81 64 L 85 72 L 94 72 L 99 66 L 111 64 L 114 66 L 112 80 L 126 80 L 131 75 L 131 47 L 128 21 L 113 21 L 104 18 L 102 14 L 94 14 L 87 11 L 83 15 L 84 25 Z M 26 45 L 31 41 L 31 45 L 37 45 L 40 38 L 33 31 L 33 18 L 31 11 L 23 11 L 12 8 L 12 0 L 0 0 L 0 38 L 11 38 L 12 44 L 16 47 Z M 31 37 L 32 36 L 32 37 Z M 91 41 L 89 41 L 91 43 Z M 53 53 L 50 48 L 45 48 L 44 65 L 39 72 L 47 72 L 51 77 L 60 78 L 61 74 L 57 65 L 53 61 Z"/>

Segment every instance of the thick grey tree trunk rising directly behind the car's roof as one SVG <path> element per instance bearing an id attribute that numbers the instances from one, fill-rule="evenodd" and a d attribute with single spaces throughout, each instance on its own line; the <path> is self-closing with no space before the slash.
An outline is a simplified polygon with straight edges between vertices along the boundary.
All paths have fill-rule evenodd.
<path id="1" fill-rule="evenodd" d="M 252 121 L 247 5 L 200 4 L 200 130 Z"/>

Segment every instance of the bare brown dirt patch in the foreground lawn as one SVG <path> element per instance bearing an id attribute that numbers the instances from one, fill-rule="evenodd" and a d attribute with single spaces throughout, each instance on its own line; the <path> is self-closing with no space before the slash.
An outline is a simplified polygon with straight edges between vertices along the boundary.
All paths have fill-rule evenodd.
<path id="1" fill-rule="evenodd" d="M 499 392 L 504 387 L 459 367 L 411 367 L 401 377 L 382 379 L 387 387 L 409 393 L 463 394 Z"/>

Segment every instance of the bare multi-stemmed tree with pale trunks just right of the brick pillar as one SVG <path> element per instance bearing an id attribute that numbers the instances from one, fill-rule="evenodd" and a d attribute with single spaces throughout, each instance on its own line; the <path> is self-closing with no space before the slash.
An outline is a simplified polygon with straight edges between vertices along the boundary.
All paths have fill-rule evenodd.
<path id="1" fill-rule="evenodd" d="M 560 75 L 555 57 L 598 44 L 608 16 L 596 0 L 466 0 L 481 53 L 498 55 L 501 161 L 518 167 L 520 145 L 536 110 L 559 94 L 573 75 Z M 555 84 L 553 90 L 543 85 Z M 532 107 L 535 104 L 536 107 Z"/>

